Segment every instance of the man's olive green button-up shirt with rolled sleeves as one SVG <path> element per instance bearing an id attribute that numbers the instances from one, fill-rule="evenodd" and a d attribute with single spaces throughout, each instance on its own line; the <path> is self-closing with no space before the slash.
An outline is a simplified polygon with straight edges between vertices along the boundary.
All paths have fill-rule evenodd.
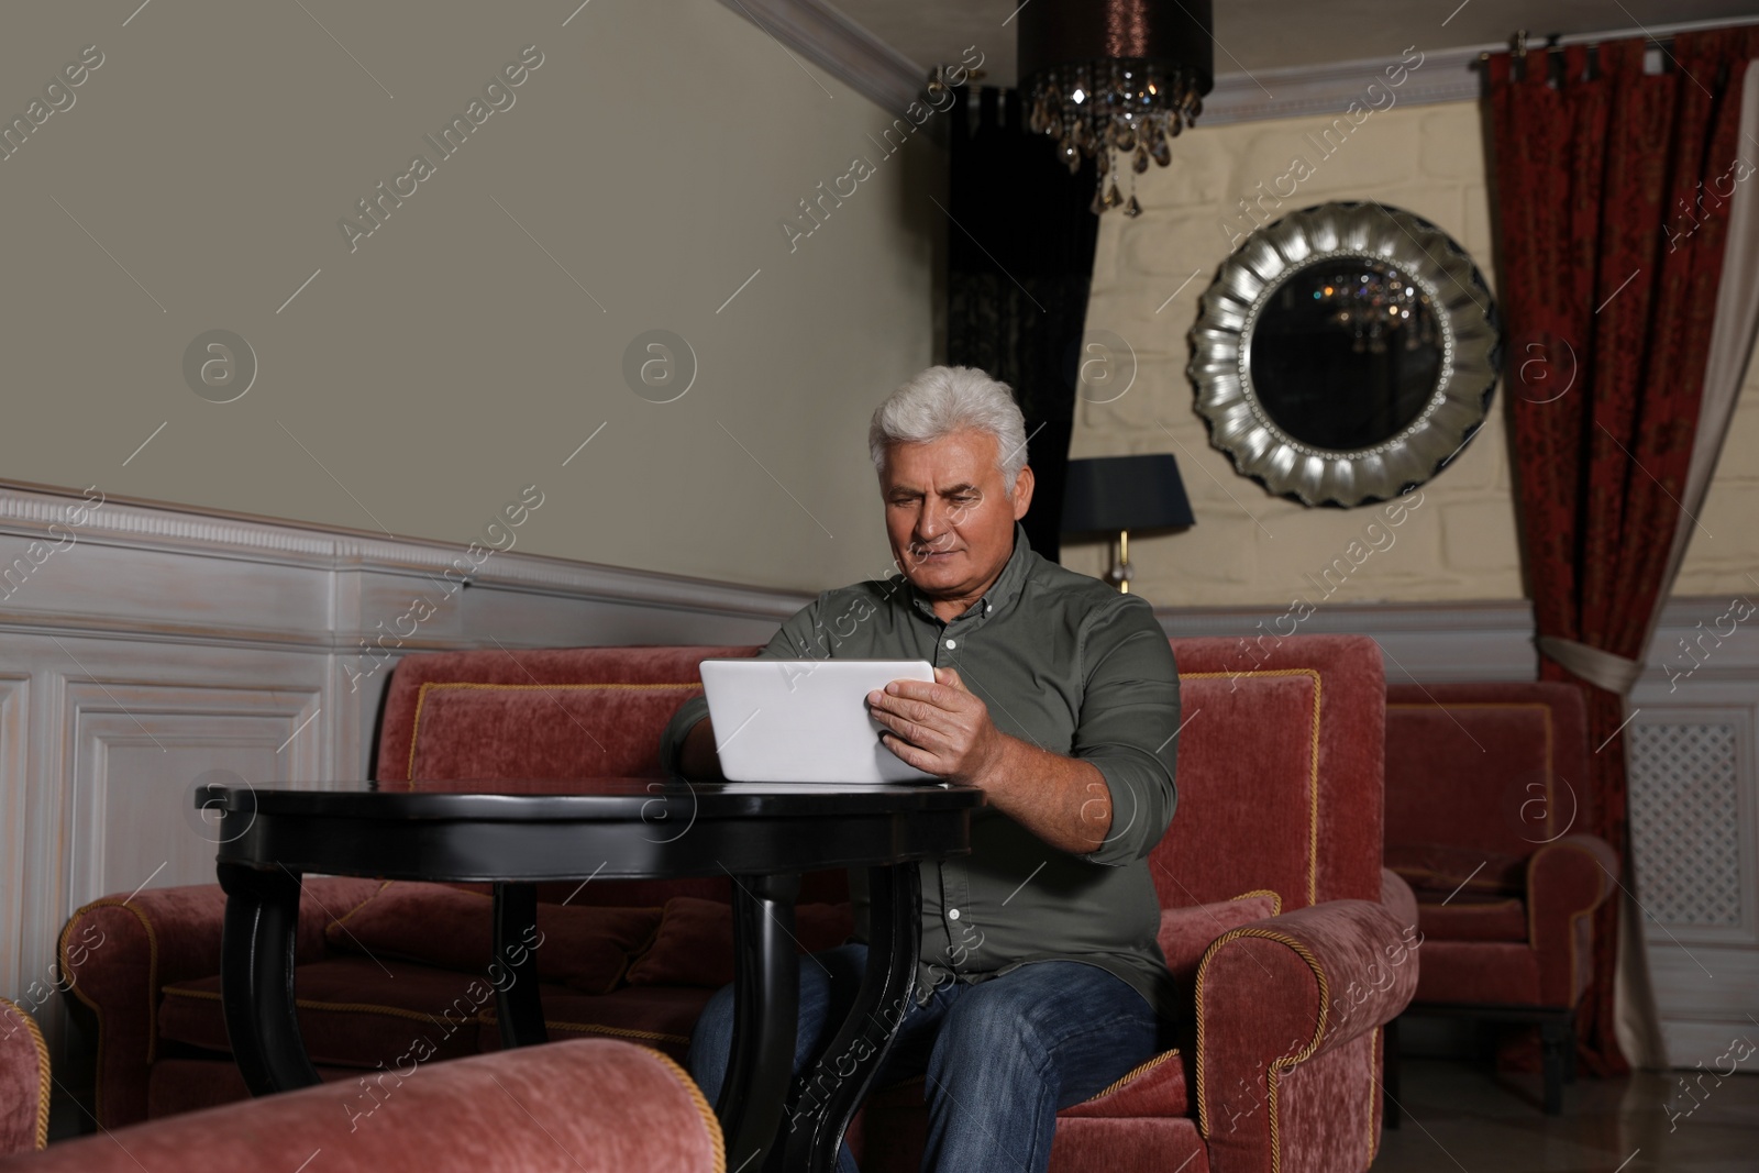
<path id="1" fill-rule="evenodd" d="M 1149 851 L 1177 802 L 1179 670 L 1142 596 L 1034 554 L 1017 524 L 1001 577 L 957 619 L 936 617 L 899 573 L 825 591 L 760 654 L 953 668 L 1003 733 L 1091 761 L 1105 779 L 1112 827 L 1094 851 L 1052 848 L 985 805 L 971 818 L 971 855 L 922 863 L 918 999 L 946 981 L 1073 960 L 1117 974 L 1173 1018 Z M 668 772 L 679 772 L 684 735 L 705 716 L 700 696 L 672 716 L 660 742 Z M 865 927 L 865 872 L 851 874 L 851 897 Z"/>

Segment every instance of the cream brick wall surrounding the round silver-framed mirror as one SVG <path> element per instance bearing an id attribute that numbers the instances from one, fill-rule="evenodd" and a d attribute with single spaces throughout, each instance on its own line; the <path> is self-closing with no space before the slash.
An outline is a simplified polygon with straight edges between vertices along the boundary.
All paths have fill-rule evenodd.
<path id="1" fill-rule="evenodd" d="M 1198 524 L 1180 535 L 1131 542 L 1135 589 L 1170 607 L 1274 607 L 1293 596 L 1319 601 L 1303 575 L 1340 557 L 1374 508 L 1309 510 L 1268 496 L 1208 447 L 1191 408 L 1186 332 L 1198 299 L 1228 255 L 1226 223 L 1245 223 L 1238 200 L 1316 153 L 1303 137 L 1328 118 L 1198 128 L 1175 142 L 1171 167 L 1138 181 L 1143 215 L 1108 213 L 1099 229 L 1089 331 L 1112 331 L 1136 353 L 1136 383 L 1113 403 L 1082 403 L 1071 454 L 1173 452 Z M 1281 213 L 1328 199 L 1374 197 L 1411 209 L 1453 236 L 1495 287 L 1485 146 L 1474 102 L 1393 107 L 1374 113 Z M 1196 276 L 1193 276 L 1196 274 Z M 1189 285 L 1180 285 L 1189 280 Z M 1157 310 L 1170 295 L 1170 304 Z M 1096 396 L 1103 397 L 1103 396 Z M 1485 427 L 1441 477 L 1423 485 L 1421 505 L 1393 529 L 1332 601 L 1509 600 L 1523 594 L 1509 482 L 1506 387 Z M 1697 535 L 1682 593 L 1752 589 L 1743 572 L 1759 566 L 1759 369 L 1748 373 L 1736 429 L 1712 487 L 1706 529 Z M 1740 521 L 1745 519 L 1745 521 Z M 1720 522 L 1720 524 L 1719 524 Z M 1099 545 L 1064 547 L 1064 563 L 1098 573 Z M 1741 586 L 1745 582 L 1745 587 Z"/>

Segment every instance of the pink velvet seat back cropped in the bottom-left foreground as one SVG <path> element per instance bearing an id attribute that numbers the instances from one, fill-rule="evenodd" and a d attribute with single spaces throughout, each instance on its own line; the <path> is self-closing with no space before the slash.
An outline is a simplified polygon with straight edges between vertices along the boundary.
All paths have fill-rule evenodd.
<path id="1" fill-rule="evenodd" d="M 366 1104 L 371 1104 L 369 1108 Z M 0 1173 L 723 1173 L 721 1129 L 682 1067 L 614 1039 L 405 1066 L 0 1157 Z"/>

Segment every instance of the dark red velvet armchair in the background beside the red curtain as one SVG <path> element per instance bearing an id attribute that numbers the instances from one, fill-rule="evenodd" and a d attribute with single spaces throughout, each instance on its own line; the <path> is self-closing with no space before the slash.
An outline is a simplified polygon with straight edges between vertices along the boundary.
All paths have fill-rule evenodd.
<path id="1" fill-rule="evenodd" d="M 1386 698 L 1386 863 L 1418 895 L 1412 1009 L 1536 1024 L 1544 1111 L 1562 1111 L 1594 911 L 1617 853 L 1587 821 L 1588 737 L 1571 684 L 1395 684 Z"/>

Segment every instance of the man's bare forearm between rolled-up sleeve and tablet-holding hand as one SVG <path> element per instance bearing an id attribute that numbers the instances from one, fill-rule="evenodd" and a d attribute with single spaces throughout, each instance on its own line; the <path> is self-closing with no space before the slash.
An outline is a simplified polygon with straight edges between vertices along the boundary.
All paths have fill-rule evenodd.
<path id="1" fill-rule="evenodd" d="M 1091 761 L 1003 733 L 994 760 L 971 783 L 997 811 L 1071 855 L 1098 849 L 1112 830 L 1112 790 Z"/>

